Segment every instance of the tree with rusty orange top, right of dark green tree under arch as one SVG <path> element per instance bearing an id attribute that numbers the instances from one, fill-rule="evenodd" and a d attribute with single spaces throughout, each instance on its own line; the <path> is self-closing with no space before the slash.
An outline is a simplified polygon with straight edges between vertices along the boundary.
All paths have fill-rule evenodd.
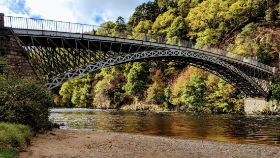
<path id="1" fill-rule="evenodd" d="M 164 76 L 161 70 L 157 70 L 155 75 L 151 77 L 153 84 L 147 90 L 147 102 L 151 103 L 163 103 L 164 102 L 164 89 L 165 82 Z"/>

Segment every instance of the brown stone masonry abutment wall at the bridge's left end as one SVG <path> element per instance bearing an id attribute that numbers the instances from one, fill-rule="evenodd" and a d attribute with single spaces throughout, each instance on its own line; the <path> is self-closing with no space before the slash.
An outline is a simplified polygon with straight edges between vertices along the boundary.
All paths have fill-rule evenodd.
<path id="1" fill-rule="evenodd" d="M 10 28 L 0 28 L 0 56 L 6 56 L 9 64 L 24 76 L 36 77 L 36 73 L 24 55 L 19 41 Z"/>

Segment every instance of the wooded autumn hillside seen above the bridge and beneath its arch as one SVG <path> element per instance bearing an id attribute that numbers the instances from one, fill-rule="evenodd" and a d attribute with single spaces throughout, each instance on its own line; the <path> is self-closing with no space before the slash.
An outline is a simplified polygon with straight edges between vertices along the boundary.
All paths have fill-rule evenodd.
<path id="1" fill-rule="evenodd" d="M 226 49 L 278 67 L 279 1 L 155 0 L 101 26 L 133 30 Z M 109 34 L 111 31 L 108 31 Z M 272 86 L 278 105 L 280 81 Z M 243 113 L 243 96 L 201 69 L 179 63 L 130 63 L 69 81 L 55 96 L 57 107 Z"/>

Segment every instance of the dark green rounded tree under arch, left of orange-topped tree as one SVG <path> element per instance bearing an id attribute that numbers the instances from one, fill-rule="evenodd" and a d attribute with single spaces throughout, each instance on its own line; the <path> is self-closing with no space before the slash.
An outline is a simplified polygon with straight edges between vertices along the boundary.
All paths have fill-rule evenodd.
<path id="1" fill-rule="evenodd" d="M 148 63 L 134 63 L 127 76 L 127 84 L 123 87 L 129 95 L 136 100 L 143 99 L 143 92 L 147 89 L 146 84 L 150 82 Z"/>

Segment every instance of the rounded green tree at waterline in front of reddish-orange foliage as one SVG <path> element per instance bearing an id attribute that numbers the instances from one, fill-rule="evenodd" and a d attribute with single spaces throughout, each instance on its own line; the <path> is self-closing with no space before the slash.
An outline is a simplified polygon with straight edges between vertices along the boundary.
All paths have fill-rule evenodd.
<path id="1" fill-rule="evenodd" d="M 183 85 L 181 102 L 184 109 L 201 111 L 205 104 L 205 78 L 202 75 L 192 75 L 191 80 Z"/>

